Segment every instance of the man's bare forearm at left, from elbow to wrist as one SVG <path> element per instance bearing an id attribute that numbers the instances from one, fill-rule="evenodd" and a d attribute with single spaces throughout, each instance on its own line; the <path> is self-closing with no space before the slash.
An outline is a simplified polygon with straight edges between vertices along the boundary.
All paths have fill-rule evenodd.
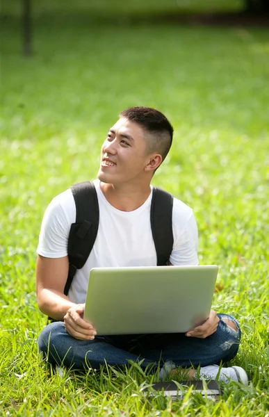
<path id="1" fill-rule="evenodd" d="M 54 318 L 54 320 L 63 320 L 63 317 L 76 304 L 58 291 L 50 288 L 42 288 L 38 293 L 38 307 L 42 313 Z"/>

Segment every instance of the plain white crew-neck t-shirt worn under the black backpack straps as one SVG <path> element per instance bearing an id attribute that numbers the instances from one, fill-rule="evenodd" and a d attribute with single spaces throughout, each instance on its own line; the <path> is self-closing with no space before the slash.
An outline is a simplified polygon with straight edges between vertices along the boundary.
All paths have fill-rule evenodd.
<path id="1" fill-rule="evenodd" d="M 120 211 L 111 206 L 94 181 L 99 203 L 99 228 L 95 245 L 83 268 L 77 270 L 68 296 L 75 303 L 84 303 L 91 268 L 119 266 L 152 266 L 157 257 L 150 224 L 152 193 L 134 211 Z M 37 252 L 47 258 L 67 255 L 71 224 L 76 221 L 76 206 L 70 189 L 49 204 L 39 236 Z M 173 265 L 198 265 L 197 225 L 193 210 L 174 198 L 172 211 L 174 245 L 170 262 Z"/>

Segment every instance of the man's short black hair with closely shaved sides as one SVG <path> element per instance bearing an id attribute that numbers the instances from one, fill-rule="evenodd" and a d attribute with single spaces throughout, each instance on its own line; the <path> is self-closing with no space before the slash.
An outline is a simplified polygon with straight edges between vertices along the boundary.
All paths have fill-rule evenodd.
<path id="1" fill-rule="evenodd" d="M 120 113 L 120 117 L 126 117 L 151 133 L 147 138 L 147 151 L 158 152 L 165 160 L 172 145 L 174 129 L 161 111 L 150 107 L 129 107 Z"/>

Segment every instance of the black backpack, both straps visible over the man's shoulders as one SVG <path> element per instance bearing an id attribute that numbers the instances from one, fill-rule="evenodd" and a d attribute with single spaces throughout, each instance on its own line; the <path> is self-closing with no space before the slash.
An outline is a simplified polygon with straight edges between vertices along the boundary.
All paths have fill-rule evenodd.
<path id="1" fill-rule="evenodd" d="M 76 222 L 68 238 L 69 272 L 65 284 L 68 294 L 76 270 L 81 269 L 90 255 L 99 226 L 99 205 L 95 185 L 85 181 L 71 187 L 76 203 Z M 167 265 L 173 247 L 173 197 L 160 188 L 153 188 L 150 222 L 157 254 L 157 265 Z"/>

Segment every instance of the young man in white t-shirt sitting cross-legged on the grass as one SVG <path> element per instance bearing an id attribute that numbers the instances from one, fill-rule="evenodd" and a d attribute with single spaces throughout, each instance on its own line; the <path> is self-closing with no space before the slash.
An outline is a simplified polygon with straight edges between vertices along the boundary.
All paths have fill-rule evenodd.
<path id="1" fill-rule="evenodd" d="M 42 221 L 38 245 L 36 288 L 42 313 L 58 322 L 47 325 L 38 345 L 50 363 L 83 369 L 90 364 L 121 366 L 144 359 L 142 366 L 163 361 L 163 379 L 175 366 L 201 366 L 200 375 L 247 382 L 242 368 L 222 368 L 238 351 L 241 330 L 226 314 L 211 310 L 203 325 L 187 334 L 136 336 L 99 335 L 83 320 L 90 269 L 108 266 L 156 265 L 150 225 L 151 180 L 172 144 L 173 129 L 167 118 L 153 108 L 133 107 L 120 113 L 101 147 L 98 179 L 94 181 L 99 202 L 99 229 L 95 245 L 81 270 L 76 272 L 68 296 L 67 240 L 76 219 L 71 190 L 49 204 Z M 90 207 L 89 207 L 90 210 Z M 197 265 L 197 226 L 193 211 L 174 199 L 174 245 L 169 263 Z M 109 314 L 109 311 L 108 311 Z M 195 369 L 189 370 L 195 376 Z"/>

